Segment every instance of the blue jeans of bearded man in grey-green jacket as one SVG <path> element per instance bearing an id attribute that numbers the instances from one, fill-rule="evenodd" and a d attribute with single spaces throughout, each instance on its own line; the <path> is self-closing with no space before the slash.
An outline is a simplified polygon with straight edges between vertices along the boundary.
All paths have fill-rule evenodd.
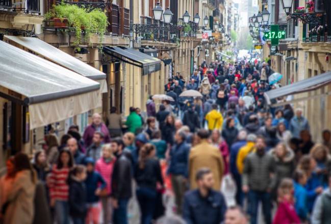
<path id="1" fill-rule="evenodd" d="M 271 223 L 271 197 L 266 191 L 249 190 L 248 192 L 248 214 L 250 215 L 250 223 L 258 223 L 258 208 L 259 202 L 262 202 L 262 211 L 264 223 Z"/>

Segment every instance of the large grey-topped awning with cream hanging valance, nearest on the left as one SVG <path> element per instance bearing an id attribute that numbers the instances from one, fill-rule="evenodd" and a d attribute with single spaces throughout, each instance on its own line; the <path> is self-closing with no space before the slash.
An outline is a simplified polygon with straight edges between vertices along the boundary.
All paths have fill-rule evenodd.
<path id="1" fill-rule="evenodd" d="M 4 41 L 0 52 L 0 97 L 29 107 L 30 129 L 101 106 L 98 82 Z"/>

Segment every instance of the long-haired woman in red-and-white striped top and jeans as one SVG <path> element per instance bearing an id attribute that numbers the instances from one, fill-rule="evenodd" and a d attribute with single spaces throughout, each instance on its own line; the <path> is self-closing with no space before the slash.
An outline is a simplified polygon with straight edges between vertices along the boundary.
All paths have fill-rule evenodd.
<path id="1" fill-rule="evenodd" d="M 63 149 L 59 153 L 58 162 L 53 166 L 48 178 L 50 207 L 55 207 L 57 223 L 69 224 L 69 186 L 67 183 L 69 171 L 73 166 L 71 152 Z"/>

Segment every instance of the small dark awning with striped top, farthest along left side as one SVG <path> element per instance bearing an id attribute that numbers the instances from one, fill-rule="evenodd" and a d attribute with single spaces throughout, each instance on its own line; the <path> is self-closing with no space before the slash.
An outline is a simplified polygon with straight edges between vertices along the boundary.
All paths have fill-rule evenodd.
<path id="1" fill-rule="evenodd" d="M 104 46 L 103 50 L 105 53 L 118 60 L 142 68 L 143 75 L 147 75 L 161 69 L 160 59 L 151 57 L 133 48 Z"/>

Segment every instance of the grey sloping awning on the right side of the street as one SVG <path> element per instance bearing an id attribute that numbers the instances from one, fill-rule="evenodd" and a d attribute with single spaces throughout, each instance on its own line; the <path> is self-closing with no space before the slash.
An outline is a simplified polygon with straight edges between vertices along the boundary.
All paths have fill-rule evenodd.
<path id="1" fill-rule="evenodd" d="M 269 105 L 271 105 L 272 99 L 314 91 L 314 90 L 320 89 L 326 85 L 329 85 L 330 83 L 331 83 L 331 71 L 320 74 L 320 75 L 316 75 L 311 78 L 303 79 L 301 81 L 292 83 L 290 85 L 287 85 L 287 86 L 284 86 L 281 88 L 270 90 L 268 92 L 265 92 L 264 96 L 266 98 L 267 103 Z M 329 93 L 323 93 L 322 95 L 328 95 L 328 94 Z M 314 96 L 310 96 L 310 97 L 294 99 L 293 101 L 308 100 L 308 99 L 314 98 L 314 97 L 320 97 L 320 95 L 318 95 L 318 96 L 314 95 Z M 286 103 L 291 103 L 291 102 L 288 101 Z M 283 104 L 285 104 L 285 103 L 283 103 Z M 277 103 L 277 105 L 280 105 L 280 104 Z"/>

